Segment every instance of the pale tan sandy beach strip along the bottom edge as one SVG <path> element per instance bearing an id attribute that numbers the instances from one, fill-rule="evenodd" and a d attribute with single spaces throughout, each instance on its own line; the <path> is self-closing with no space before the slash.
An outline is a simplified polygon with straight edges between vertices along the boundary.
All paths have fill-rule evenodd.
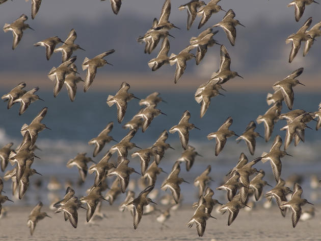
<path id="1" fill-rule="evenodd" d="M 304 206 L 304 209 L 308 208 L 310 207 Z M 86 211 L 79 210 L 76 229 L 69 221 L 64 221 L 61 213 L 53 213 L 44 207 L 43 210 L 52 219 L 40 221 L 33 236 L 30 236 L 26 225 L 31 209 L 32 207 L 8 207 L 7 216 L 0 219 L 0 240 L 321 240 L 320 219 L 317 216 L 312 220 L 299 222 L 293 229 L 291 215 L 287 213 L 283 218 L 277 207 L 257 207 L 251 212 L 242 209 L 231 226 L 227 226 L 227 213 L 222 215 L 213 210 L 212 215 L 218 220 L 207 221 L 203 237 L 198 237 L 194 226 L 191 229 L 186 226 L 194 212 L 192 207 L 186 205 L 171 212 L 171 217 L 166 222 L 168 228 L 161 228 L 155 220 L 156 214 L 150 214 L 143 216 L 137 230 L 132 227 L 129 212 L 121 213 L 117 206 L 105 205 L 102 212 L 108 218 L 93 225 L 85 224 Z M 320 206 L 316 206 L 317 209 Z"/>

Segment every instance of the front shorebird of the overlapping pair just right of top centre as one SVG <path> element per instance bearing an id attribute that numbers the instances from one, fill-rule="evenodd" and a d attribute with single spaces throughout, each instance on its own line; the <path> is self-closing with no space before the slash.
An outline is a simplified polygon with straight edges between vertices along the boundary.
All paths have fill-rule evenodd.
<path id="1" fill-rule="evenodd" d="M 219 31 L 212 32 L 211 28 L 208 28 L 201 32 L 197 37 L 192 37 L 190 40 L 190 45 L 186 48 L 192 50 L 196 49 L 196 65 L 199 65 L 200 62 L 203 60 L 206 52 L 207 47 L 211 47 L 214 44 L 219 44 L 213 36 L 217 34 Z M 220 44 L 219 44 L 220 45 Z"/>

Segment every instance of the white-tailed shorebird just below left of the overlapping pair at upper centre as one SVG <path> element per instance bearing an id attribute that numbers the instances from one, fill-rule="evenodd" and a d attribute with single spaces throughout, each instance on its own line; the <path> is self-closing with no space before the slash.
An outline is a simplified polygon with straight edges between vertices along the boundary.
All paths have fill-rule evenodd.
<path id="1" fill-rule="evenodd" d="M 191 50 L 192 50 L 191 48 L 186 48 L 186 49 L 183 49 L 181 52 L 179 52 L 177 55 L 171 54 L 171 56 L 169 57 L 169 63 L 171 66 L 176 63 L 175 79 L 174 79 L 175 84 L 177 83 L 177 81 L 179 81 L 181 76 L 184 74 L 184 70 L 186 68 L 186 61 L 196 58 L 194 54 L 190 53 Z"/>

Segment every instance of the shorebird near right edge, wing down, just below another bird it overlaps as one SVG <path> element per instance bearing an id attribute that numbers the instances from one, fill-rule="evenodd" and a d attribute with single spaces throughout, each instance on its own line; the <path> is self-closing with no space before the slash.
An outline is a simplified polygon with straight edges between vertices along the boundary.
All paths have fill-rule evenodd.
<path id="1" fill-rule="evenodd" d="M 280 129 L 281 131 L 286 130 L 284 151 L 290 146 L 290 143 L 292 142 L 293 137 L 295 135 L 296 135 L 295 146 L 297 146 L 300 140 L 304 142 L 304 139 L 305 139 L 304 129 L 305 128 L 312 129 L 303 122 L 303 118 L 305 117 L 305 115 L 309 115 L 309 114 L 304 113 L 302 115 L 299 115 L 298 117 L 293 119 L 293 121 L 288 123 L 285 127 Z"/>

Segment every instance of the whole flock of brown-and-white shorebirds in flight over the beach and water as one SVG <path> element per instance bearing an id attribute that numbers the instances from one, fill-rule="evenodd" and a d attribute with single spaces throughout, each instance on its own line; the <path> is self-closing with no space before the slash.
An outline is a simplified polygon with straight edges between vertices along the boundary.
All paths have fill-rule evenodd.
<path id="1" fill-rule="evenodd" d="M 0 4 L 6 1 L 0 1 Z M 35 18 L 41 4 L 41 0 L 32 0 L 32 19 Z M 220 0 L 212 0 L 205 4 L 203 1 L 192 0 L 191 2 L 179 6 L 179 10 L 187 9 L 188 20 L 187 29 L 189 30 L 193 25 L 197 15 L 201 16 L 201 20 L 198 29 L 209 20 L 213 13 L 219 11 L 225 11 L 221 6 L 217 5 Z M 303 15 L 305 5 L 311 3 L 316 3 L 312 0 L 295 0 L 289 4 L 289 6 L 295 6 L 295 16 L 296 21 L 299 21 Z M 111 0 L 112 9 L 115 14 L 118 13 L 121 0 L 114 1 Z M 145 42 L 145 53 L 151 53 L 159 41 L 163 38 L 161 50 L 159 51 L 156 58 L 151 59 L 148 62 L 148 66 L 152 71 L 157 70 L 164 64 L 174 65 L 176 64 L 175 71 L 175 83 L 181 78 L 184 70 L 186 68 L 186 61 L 196 58 L 196 64 L 200 64 L 203 60 L 207 47 L 213 46 L 214 44 L 219 44 L 213 39 L 213 36 L 218 32 L 213 32 L 212 28 L 221 27 L 223 28 L 226 36 L 232 46 L 235 44 L 236 40 L 236 26 L 242 25 L 238 20 L 234 19 L 235 13 L 232 9 L 226 11 L 226 14 L 222 21 L 213 25 L 212 28 L 205 29 L 197 37 L 193 37 L 190 40 L 190 44 L 185 47 L 179 54 L 171 54 L 168 57 L 168 52 L 170 49 L 170 43 L 168 36 L 170 35 L 169 30 L 172 28 L 177 28 L 173 23 L 169 22 L 169 15 L 171 10 L 170 0 L 166 0 L 159 20 L 156 18 L 153 20 L 152 28 L 149 29 L 146 34 L 138 38 L 138 42 Z M 24 23 L 28 17 L 22 14 L 13 23 L 5 24 L 4 31 L 12 31 L 13 33 L 13 46 L 15 49 L 22 38 L 23 31 L 25 29 L 32 29 L 28 24 Z M 304 25 L 299 29 L 296 34 L 290 35 L 286 40 L 292 41 L 292 50 L 289 57 L 289 62 L 295 58 L 300 49 L 302 41 L 306 41 L 304 56 L 308 53 L 310 47 L 312 46 L 315 37 L 321 35 L 320 27 L 321 21 L 318 22 L 310 30 L 307 30 L 312 22 L 312 17 L 304 23 Z M 62 41 L 59 37 L 49 37 L 42 41 L 35 43 L 35 46 L 44 46 L 46 48 L 46 59 L 49 60 L 52 53 L 62 52 L 62 64 L 57 68 L 52 67 L 48 73 L 48 78 L 55 82 L 55 87 L 53 90 L 54 97 L 57 97 L 61 91 L 64 84 L 68 90 L 69 98 L 74 101 L 77 83 L 83 81 L 81 77 L 77 76 L 77 67 L 74 64 L 76 56 L 72 57 L 73 51 L 82 49 L 74 41 L 77 35 L 74 29 L 72 29 L 65 41 Z M 62 43 L 61 46 L 56 48 L 56 45 Z M 219 44 L 220 47 L 220 66 L 219 70 L 211 75 L 210 80 L 206 83 L 200 85 L 195 93 L 195 100 L 200 103 L 200 117 L 203 117 L 210 105 L 211 98 L 221 94 L 220 89 L 225 90 L 222 85 L 228 80 L 238 76 L 237 72 L 230 70 L 231 58 L 228 54 L 226 47 L 223 44 Z M 196 50 L 196 55 L 190 53 L 191 50 Z M 86 78 L 84 81 L 84 91 L 86 92 L 94 81 L 96 76 L 97 68 L 104 66 L 105 64 L 110 64 L 103 58 L 114 53 L 115 50 L 106 51 L 96 57 L 89 59 L 85 58 L 82 64 L 83 70 L 87 69 Z M 187 223 L 189 227 L 196 225 L 196 229 L 199 236 L 203 236 L 206 221 L 209 218 L 214 218 L 211 215 L 211 211 L 216 204 L 221 205 L 220 211 L 225 213 L 228 212 L 228 225 L 231 225 L 235 220 L 239 210 L 248 205 L 250 197 L 254 197 L 256 201 L 260 200 L 262 196 L 262 189 L 265 185 L 269 185 L 263 180 L 265 172 L 263 170 L 257 170 L 253 167 L 259 161 L 266 162 L 270 161 L 272 166 L 272 172 L 275 177 L 276 185 L 270 191 L 266 192 L 265 197 L 270 201 L 272 198 L 276 199 L 279 206 L 281 214 L 285 216 L 286 210 L 290 209 L 292 212 L 292 226 L 296 227 L 300 216 L 301 216 L 301 206 L 309 203 L 306 199 L 302 199 L 302 188 L 298 183 L 293 185 L 293 191 L 285 186 L 285 181 L 281 178 L 282 164 L 281 158 L 285 155 L 290 156 L 286 149 L 289 147 L 290 143 L 294 139 L 294 144 L 297 146 L 301 141 L 305 140 L 305 128 L 310 128 L 307 123 L 315 121 L 318 119 L 316 124 L 316 130 L 321 127 L 321 103 L 318 110 L 316 111 L 305 111 L 305 110 L 292 110 L 294 92 L 292 87 L 301 83 L 296 78 L 303 73 L 303 68 L 299 68 L 293 71 L 283 80 L 276 82 L 273 85 L 274 93 L 269 93 L 266 102 L 268 105 L 272 105 L 263 115 L 259 115 L 256 119 L 257 124 L 264 123 L 265 133 L 264 137 L 255 131 L 256 124 L 251 121 L 246 127 L 242 135 L 237 135 L 234 131 L 229 130 L 233 123 L 233 119 L 229 116 L 221 127 L 215 132 L 209 133 L 207 135 L 208 140 L 216 140 L 215 146 L 215 156 L 218 156 L 227 141 L 227 138 L 232 136 L 237 136 L 236 141 L 244 140 L 247 144 L 249 152 L 254 155 L 257 137 L 262 137 L 268 142 L 272 136 L 274 125 L 279 119 L 286 120 L 286 126 L 281 130 L 286 131 L 285 141 L 284 141 L 284 151 L 281 150 L 282 138 L 277 135 L 274 139 L 272 147 L 269 152 L 263 152 L 261 156 L 255 158 L 254 160 L 248 162 L 248 158 L 242 153 L 239 157 L 239 161 L 236 166 L 229 171 L 227 174 L 227 179 L 222 185 L 217 187 L 218 190 L 227 191 L 227 200 L 225 204 L 221 204 L 218 200 L 213 199 L 214 191 L 208 186 L 208 183 L 212 181 L 209 173 L 211 171 L 211 166 L 208 165 L 205 171 L 198 176 L 194 185 L 199 188 L 199 201 L 193 206 L 196 207 L 194 215 L 191 220 Z M 35 87 L 29 91 L 24 90 L 26 83 L 21 82 L 15 86 L 9 93 L 4 94 L 2 99 L 8 101 L 8 109 L 10 109 L 15 103 L 20 102 L 19 115 L 23 114 L 29 105 L 37 100 L 42 100 L 38 95 L 35 94 L 39 90 L 39 87 Z M 117 108 L 117 120 L 119 123 L 123 121 L 126 113 L 127 102 L 132 99 L 138 99 L 134 94 L 129 93 L 128 90 L 130 85 L 123 82 L 115 95 L 109 95 L 106 104 L 112 107 L 114 104 Z M 222 95 L 222 94 L 221 94 Z M 145 132 L 150 126 L 153 118 L 163 114 L 166 115 L 161 110 L 157 109 L 156 106 L 159 102 L 165 102 L 161 97 L 159 97 L 158 92 L 151 93 L 145 99 L 139 101 L 139 105 L 144 106 L 139 112 L 132 117 L 132 119 L 124 125 L 124 128 L 128 128 L 129 132 L 120 140 L 116 141 L 109 133 L 113 129 L 113 122 L 109 123 L 97 137 L 91 139 L 88 144 L 94 145 L 93 157 L 95 157 L 99 152 L 102 151 L 106 143 L 110 141 L 117 142 L 112 146 L 108 152 L 101 158 L 99 162 L 94 162 L 90 157 L 86 156 L 86 153 L 78 153 L 73 159 L 67 162 L 67 167 L 76 166 L 79 171 L 79 176 L 83 182 L 86 180 L 87 173 L 94 173 L 95 180 L 92 187 L 88 190 L 87 196 L 78 198 L 75 196 L 75 191 L 69 186 L 66 190 L 66 195 L 64 198 L 53 204 L 56 208 L 56 212 L 63 212 L 65 221 L 69 220 L 71 225 L 77 227 L 77 210 L 79 208 L 84 208 L 87 210 L 86 221 L 89 222 L 93 219 L 95 211 L 100 209 L 101 202 L 107 201 L 113 204 L 114 200 L 121 193 L 127 191 L 126 199 L 119 206 L 120 211 L 128 209 L 133 216 L 133 227 L 136 229 L 142 219 L 142 215 L 148 211 L 157 210 L 155 207 L 151 207 L 151 203 L 154 203 L 148 195 L 152 195 L 152 191 L 155 191 L 155 183 L 157 175 L 165 171 L 159 167 L 165 152 L 168 149 L 173 149 L 170 144 L 166 143 L 168 138 L 168 131 L 159 135 L 155 143 L 151 147 L 146 149 L 141 149 L 136 146 L 135 143 L 131 142 L 131 139 L 135 136 L 136 132 L 141 128 L 142 132 Z M 287 113 L 281 114 L 282 102 L 285 102 L 287 108 L 290 110 Z M 0 159 L 1 159 L 1 170 L 6 171 L 7 165 L 10 162 L 15 165 L 10 171 L 4 174 L 5 180 L 12 180 L 12 191 L 15 194 L 18 189 L 18 198 L 22 199 L 25 192 L 29 187 L 29 178 L 34 174 L 39 174 L 31 166 L 34 162 L 34 158 L 38 158 L 35 155 L 35 150 L 37 149 L 36 140 L 39 132 L 44 129 L 49 129 L 45 124 L 42 123 L 43 118 L 47 113 L 48 108 L 44 107 L 33 119 L 33 121 L 28 125 L 24 124 L 21 128 L 22 142 L 16 148 L 13 149 L 13 143 L 8 143 L 0 149 Z M 173 134 L 178 132 L 181 147 L 183 153 L 181 157 L 173 164 L 172 171 L 168 174 L 168 177 L 164 180 L 163 184 L 160 186 L 161 189 L 169 189 L 172 192 L 172 200 L 174 206 L 172 209 L 177 208 L 180 204 L 182 198 L 180 195 L 180 185 L 186 182 L 183 178 L 179 177 L 180 173 L 180 163 L 186 163 L 186 171 L 189 172 L 193 167 L 195 158 L 199 155 L 195 148 L 189 145 L 189 131 L 193 129 L 199 129 L 194 124 L 190 123 L 191 113 L 186 110 L 183 112 L 179 123 L 169 129 L 169 133 Z M 310 128 L 311 129 L 311 128 Z M 141 163 L 141 172 L 137 172 L 133 168 L 129 167 L 130 163 L 128 156 L 128 150 L 133 148 L 139 148 L 141 150 L 133 152 L 131 158 L 139 157 Z M 110 162 L 111 157 L 117 154 L 117 163 Z M 200 155 L 199 155 L 200 156 Z M 154 157 L 154 160 L 152 160 Z M 94 162 L 90 167 L 88 167 L 89 162 Z M 135 197 L 135 192 L 128 190 L 130 175 L 136 173 L 142 176 L 145 180 L 145 189 Z M 41 175 L 41 174 L 39 174 Z M 255 175 L 251 180 L 250 176 Z M 106 185 L 106 178 L 110 176 L 116 176 L 117 178 L 109 187 L 108 192 L 105 196 L 102 196 L 102 192 L 108 188 Z M 0 177 L 0 213 L 2 209 L 2 204 L 6 201 L 11 201 L 7 196 L 2 195 L 3 191 L 3 181 Z M 290 199 L 286 198 L 287 194 L 292 193 Z M 82 206 L 86 204 L 86 207 Z M 28 220 L 28 226 L 30 227 L 31 235 L 34 232 L 36 224 L 39 220 L 47 217 L 47 213 L 41 212 L 41 207 L 43 204 L 39 202 L 35 208 L 31 211 Z M 144 210 L 145 209 L 145 210 Z M 170 216 L 170 210 L 162 211 L 162 214 L 158 216 L 157 221 L 164 223 Z M 97 211 L 96 211 L 97 212 Z M 49 217 L 49 216 L 48 216 Z M 215 218 L 214 218 L 215 219 Z"/>

